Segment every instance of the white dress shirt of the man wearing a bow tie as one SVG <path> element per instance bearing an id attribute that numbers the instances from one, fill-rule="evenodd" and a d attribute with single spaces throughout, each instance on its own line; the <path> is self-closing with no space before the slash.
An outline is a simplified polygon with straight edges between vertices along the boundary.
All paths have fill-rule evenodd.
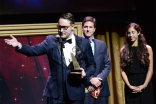
<path id="1" fill-rule="evenodd" d="M 74 48 L 76 46 L 76 41 L 75 41 L 75 36 L 74 34 L 72 34 L 71 38 L 72 39 L 72 43 L 69 44 L 68 42 L 66 42 L 64 44 L 65 48 L 63 48 L 63 53 L 64 53 L 64 57 L 65 57 L 65 60 L 66 60 L 66 65 L 68 66 L 70 64 L 70 62 L 72 61 L 72 58 L 71 58 L 71 54 L 70 53 L 73 53 L 74 56 L 75 56 L 75 51 L 74 51 Z"/>

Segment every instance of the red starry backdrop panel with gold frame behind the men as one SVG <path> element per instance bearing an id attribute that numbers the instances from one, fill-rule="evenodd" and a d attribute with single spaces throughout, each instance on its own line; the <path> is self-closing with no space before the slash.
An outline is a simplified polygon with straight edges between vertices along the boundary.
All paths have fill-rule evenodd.
<path id="1" fill-rule="evenodd" d="M 82 36 L 81 22 L 75 23 L 74 33 Z M 0 25 L 0 104 L 46 104 L 42 94 L 49 76 L 47 56 L 15 52 L 4 42 L 9 34 L 23 44 L 36 45 L 46 35 L 57 34 L 57 23 Z"/>

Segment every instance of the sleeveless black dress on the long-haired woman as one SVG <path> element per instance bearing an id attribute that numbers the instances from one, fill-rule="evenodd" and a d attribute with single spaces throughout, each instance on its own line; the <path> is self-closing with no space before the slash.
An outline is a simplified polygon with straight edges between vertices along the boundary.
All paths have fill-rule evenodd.
<path id="1" fill-rule="evenodd" d="M 137 47 L 131 47 L 131 50 L 133 53 L 133 64 L 126 67 L 125 73 L 128 77 L 129 83 L 132 86 L 143 85 L 146 79 L 148 68 L 142 68 L 141 61 L 136 56 Z M 132 93 L 132 91 L 125 84 L 125 101 L 126 104 L 154 104 L 151 81 L 140 93 Z"/>

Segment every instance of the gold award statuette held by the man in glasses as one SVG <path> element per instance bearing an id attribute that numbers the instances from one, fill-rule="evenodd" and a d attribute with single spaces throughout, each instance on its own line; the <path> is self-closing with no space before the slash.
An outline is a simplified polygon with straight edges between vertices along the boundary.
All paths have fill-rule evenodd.
<path id="1" fill-rule="evenodd" d="M 70 74 L 81 75 L 82 70 L 80 69 L 80 66 L 79 66 L 74 54 L 73 53 L 70 53 L 70 54 L 71 54 L 71 58 L 72 58 L 72 61 L 73 61 L 73 66 L 74 66 L 74 69 L 71 69 Z"/>

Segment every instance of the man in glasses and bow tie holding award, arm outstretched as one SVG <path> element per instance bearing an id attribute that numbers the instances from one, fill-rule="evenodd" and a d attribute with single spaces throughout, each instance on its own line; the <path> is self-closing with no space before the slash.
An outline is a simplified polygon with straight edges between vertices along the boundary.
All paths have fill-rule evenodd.
<path id="1" fill-rule="evenodd" d="M 58 34 L 49 35 L 38 45 L 27 46 L 12 39 L 5 42 L 16 51 L 27 56 L 47 54 L 50 64 L 50 73 L 43 96 L 47 97 L 47 104 L 83 104 L 85 86 L 95 72 L 94 56 L 88 39 L 78 37 L 73 33 L 74 16 L 71 13 L 62 14 L 58 20 Z M 82 74 L 70 74 L 73 69 L 73 53 L 78 60 Z M 62 57 L 61 57 L 62 54 Z"/>

